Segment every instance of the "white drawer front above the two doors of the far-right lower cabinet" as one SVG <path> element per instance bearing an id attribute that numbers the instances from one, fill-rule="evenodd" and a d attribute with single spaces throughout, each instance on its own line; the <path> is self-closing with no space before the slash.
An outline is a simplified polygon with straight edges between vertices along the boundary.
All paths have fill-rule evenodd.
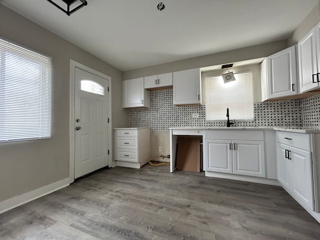
<path id="1" fill-rule="evenodd" d="M 276 131 L 276 141 L 289 146 L 310 151 L 309 134 Z"/>

